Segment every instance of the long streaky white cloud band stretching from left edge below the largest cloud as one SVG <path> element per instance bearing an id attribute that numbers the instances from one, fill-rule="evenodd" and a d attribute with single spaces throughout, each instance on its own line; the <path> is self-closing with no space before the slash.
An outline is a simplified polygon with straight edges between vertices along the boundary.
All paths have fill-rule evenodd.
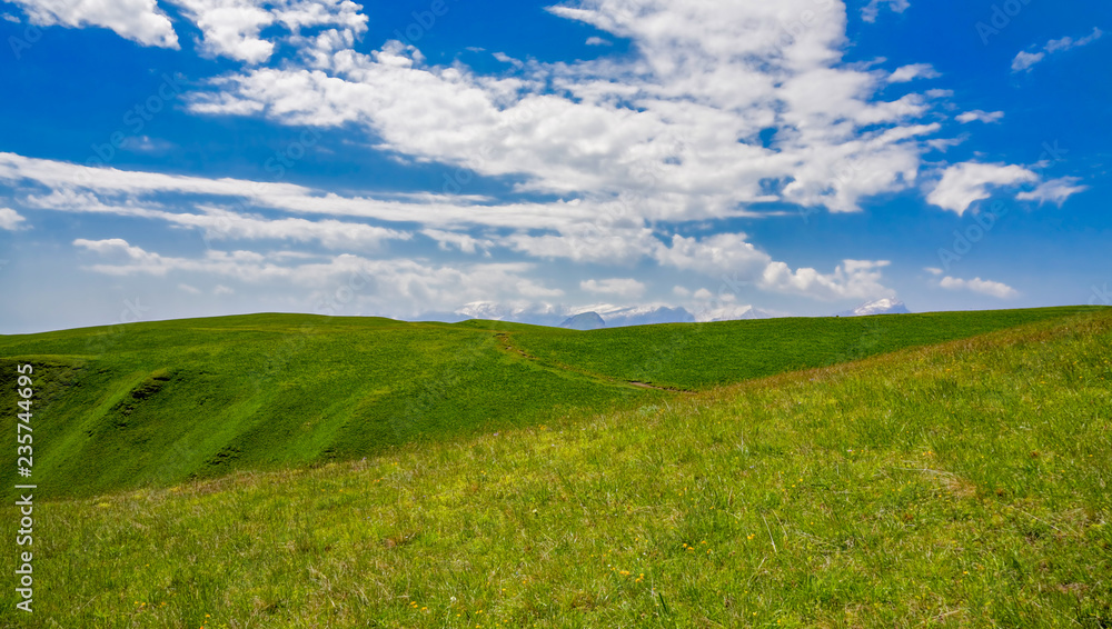
<path id="1" fill-rule="evenodd" d="M 662 242 L 657 232 L 646 227 L 638 211 L 654 211 L 672 203 L 671 198 L 639 203 L 617 201 L 598 203 L 578 199 L 557 203 L 471 206 L 470 199 L 418 197 L 405 200 L 375 200 L 338 197 L 289 183 L 264 183 L 232 179 L 210 180 L 150 172 L 88 168 L 63 162 L 0 153 L 0 181 L 32 181 L 53 189 L 47 194 L 23 199 L 28 207 L 69 212 L 99 212 L 167 221 L 175 227 L 201 230 L 209 242 L 232 240 L 317 241 L 331 249 L 358 252 L 375 250 L 387 240 L 410 240 L 413 232 L 388 227 L 331 219 L 271 219 L 254 213 L 254 208 L 280 209 L 308 214 L 341 214 L 385 222 L 420 223 L 421 233 L 441 249 L 464 252 L 493 248 L 540 259 L 570 259 L 577 262 L 633 266 L 655 260 L 664 267 L 704 274 L 734 273 L 759 288 L 805 293 L 826 299 L 840 290 L 856 294 L 853 273 L 823 274 L 813 269 L 792 271 L 747 242 L 743 233 L 719 233 L 703 239 L 675 234 Z M 170 210 L 166 194 L 232 197 L 242 199 L 235 210 L 227 204 L 197 203 L 198 211 Z M 173 197 L 166 201 L 172 201 Z M 455 201 L 455 202 L 453 202 Z M 178 202 L 180 206 L 180 201 Z M 446 229 L 451 227 L 453 229 Z M 459 228 L 499 227 L 502 233 L 476 237 Z M 508 231 L 505 230 L 508 228 Z M 100 244 L 103 246 L 103 244 Z M 136 252 L 141 256 L 140 252 Z M 166 267 L 156 259 L 155 272 Z M 218 260 L 217 262 L 222 262 Z M 215 263 L 215 262 L 214 262 Z M 768 279 L 770 266 L 776 264 Z M 209 264 L 211 267 L 212 264 Z M 217 264 L 218 266 L 218 264 Z M 203 264 L 195 268 L 208 268 Z M 135 268 L 127 272 L 137 272 Z M 106 272 L 123 272 L 121 269 Z M 252 271 L 255 272 L 255 271 Z M 277 269 L 275 269 L 277 272 Z M 842 274 L 840 274 L 842 273 Z M 858 282 L 860 283 L 860 282 Z M 847 287 L 847 288 L 840 288 Z M 876 289 L 870 289 L 876 292 Z"/>

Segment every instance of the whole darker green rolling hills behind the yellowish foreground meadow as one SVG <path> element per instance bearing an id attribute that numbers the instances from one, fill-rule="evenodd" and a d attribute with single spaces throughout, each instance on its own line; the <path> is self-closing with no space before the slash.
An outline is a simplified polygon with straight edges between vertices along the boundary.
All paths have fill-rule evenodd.
<path id="1" fill-rule="evenodd" d="M 572 332 L 503 323 L 254 314 L 0 337 L 0 407 L 36 367 L 34 478 L 92 496 L 359 460 L 636 408 L 1083 308 L 776 319 Z M 3 492 L 16 452 L 0 456 Z"/>

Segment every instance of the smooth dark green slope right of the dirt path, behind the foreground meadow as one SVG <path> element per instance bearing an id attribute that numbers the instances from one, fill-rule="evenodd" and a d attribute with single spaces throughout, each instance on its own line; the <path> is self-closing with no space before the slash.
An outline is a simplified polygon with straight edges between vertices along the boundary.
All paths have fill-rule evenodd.
<path id="1" fill-rule="evenodd" d="M 578 332 L 534 328 L 515 345 L 553 363 L 622 380 L 701 390 L 940 343 L 1093 308 L 672 323 Z"/>

